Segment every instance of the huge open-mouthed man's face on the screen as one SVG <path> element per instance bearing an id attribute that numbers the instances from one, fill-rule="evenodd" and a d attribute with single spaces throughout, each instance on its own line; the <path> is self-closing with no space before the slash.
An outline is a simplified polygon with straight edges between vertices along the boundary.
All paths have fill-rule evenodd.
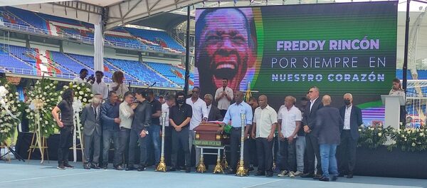
<path id="1" fill-rule="evenodd" d="M 216 88 L 223 86 L 238 90 L 248 68 L 248 29 L 246 18 L 236 10 L 222 9 L 206 16 L 206 27 L 201 33 L 199 72 L 209 76 Z"/>

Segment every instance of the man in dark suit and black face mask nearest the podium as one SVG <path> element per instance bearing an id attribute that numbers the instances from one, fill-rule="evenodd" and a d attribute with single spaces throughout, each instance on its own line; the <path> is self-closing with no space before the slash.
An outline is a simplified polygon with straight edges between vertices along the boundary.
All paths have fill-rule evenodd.
<path id="1" fill-rule="evenodd" d="M 344 124 L 339 127 L 341 132 L 341 145 L 338 147 L 339 176 L 353 177 L 354 164 L 356 163 L 356 147 L 359 139 L 359 126 L 363 124 L 362 110 L 353 105 L 353 95 L 344 94 L 344 106 L 339 108 Z"/>

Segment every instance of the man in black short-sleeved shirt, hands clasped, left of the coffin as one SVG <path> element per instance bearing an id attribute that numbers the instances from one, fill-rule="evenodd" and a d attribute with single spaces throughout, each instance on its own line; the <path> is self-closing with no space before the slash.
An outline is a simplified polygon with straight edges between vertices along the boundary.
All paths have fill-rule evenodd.
<path id="1" fill-rule="evenodd" d="M 190 172 L 189 123 L 193 116 L 193 110 L 191 105 L 185 103 L 185 95 L 182 92 L 176 93 L 176 103 L 178 105 L 172 106 L 169 112 L 169 125 L 174 127 L 172 130 L 172 167 L 169 171 L 176 170 L 178 148 L 181 145 L 185 154 L 185 172 Z"/>

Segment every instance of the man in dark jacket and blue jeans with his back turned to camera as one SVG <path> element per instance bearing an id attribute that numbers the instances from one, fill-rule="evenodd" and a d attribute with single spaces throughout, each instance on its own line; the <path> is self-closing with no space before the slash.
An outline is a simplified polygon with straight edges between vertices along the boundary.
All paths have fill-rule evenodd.
<path id="1" fill-rule="evenodd" d="M 319 178 L 320 181 L 329 182 L 330 174 L 332 181 L 337 180 L 338 167 L 337 145 L 339 145 L 339 127 L 342 126 L 342 119 L 339 116 L 339 110 L 331 106 L 332 100 L 330 95 L 325 95 L 322 98 L 324 107 L 317 110 L 316 131 L 314 135 L 318 138 L 320 145 L 320 159 L 322 160 L 323 175 Z"/>

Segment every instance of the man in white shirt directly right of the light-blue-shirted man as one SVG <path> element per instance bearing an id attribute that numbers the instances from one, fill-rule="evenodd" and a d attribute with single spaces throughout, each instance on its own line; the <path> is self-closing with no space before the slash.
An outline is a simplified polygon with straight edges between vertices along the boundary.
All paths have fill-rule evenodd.
<path id="1" fill-rule="evenodd" d="M 273 138 L 278 123 L 278 114 L 268 105 L 265 95 L 258 98 L 260 107 L 253 115 L 252 137 L 256 138 L 258 172 L 255 176 L 273 176 Z M 267 172 L 267 173 L 265 173 Z"/>

